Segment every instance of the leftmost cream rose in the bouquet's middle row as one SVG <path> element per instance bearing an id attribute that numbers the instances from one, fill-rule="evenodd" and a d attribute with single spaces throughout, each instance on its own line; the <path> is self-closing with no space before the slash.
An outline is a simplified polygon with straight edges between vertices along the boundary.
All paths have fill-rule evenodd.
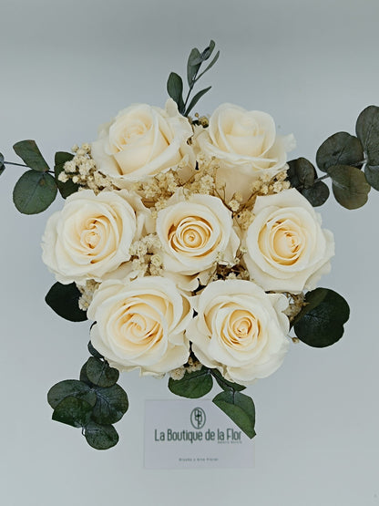
<path id="1" fill-rule="evenodd" d="M 77 191 L 46 223 L 42 259 L 60 283 L 101 281 L 130 258 L 149 211 L 126 190 Z"/>

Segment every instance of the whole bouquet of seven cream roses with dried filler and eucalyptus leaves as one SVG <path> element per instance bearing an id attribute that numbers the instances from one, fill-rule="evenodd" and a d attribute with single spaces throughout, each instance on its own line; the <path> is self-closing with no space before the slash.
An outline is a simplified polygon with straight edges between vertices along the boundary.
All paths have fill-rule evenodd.
<path id="1" fill-rule="evenodd" d="M 58 151 L 54 170 L 33 140 L 15 153 L 28 170 L 15 207 L 43 212 L 57 193 L 63 208 L 46 223 L 43 260 L 56 276 L 46 303 L 71 321 L 91 320 L 91 355 L 79 379 L 47 395 L 53 419 L 81 428 L 89 445 L 118 442 L 128 410 L 120 371 L 169 377 L 185 398 L 207 395 L 250 438 L 255 408 L 242 391 L 282 365 L 293 343 L 330 346 L 343 336 L 349 306 L 316 287 L 330 270 L 333 233 L 314 207 L 329 197 L 347 209 L 379 190 L 379 108 L 365 108 L 356 136 L 338 132 L 316 165 L 288 161 L 292 135 L 271 116 L 222 104 L 189 113 L 217 61 L 215 44 L 192 49 L 189 91 L 171 73 L 165 108 L 134 104 L 103 125 L 98 139 Z M 203 70 L 203 65 L 205 69 Z M 292 333 L 292 336 L 290 336 Z"/>

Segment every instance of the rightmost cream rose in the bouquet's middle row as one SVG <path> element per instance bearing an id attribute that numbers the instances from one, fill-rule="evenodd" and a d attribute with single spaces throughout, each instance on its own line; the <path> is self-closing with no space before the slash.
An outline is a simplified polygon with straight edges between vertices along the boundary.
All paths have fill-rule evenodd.
<path id="1" fill-rule="evenodd" d="M 252 212 L 244 255 L 251 278 L 264 290 L 312 290 L 334 254 L 333 233 L 321 228 L 320 214 L 294 188 L 258 197 Z"/>

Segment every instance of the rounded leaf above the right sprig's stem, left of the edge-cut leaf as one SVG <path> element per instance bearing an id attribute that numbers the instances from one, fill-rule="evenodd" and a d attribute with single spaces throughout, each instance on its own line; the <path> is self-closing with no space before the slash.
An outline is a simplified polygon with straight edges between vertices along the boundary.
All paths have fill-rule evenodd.
<path id="1" fill-rule="evenodd" d="M 326 139 L 317 150 L 316 162 L 327 172 L 333 165 L 362 165 L 364 148 L 359 139 L 347 132 L 338 132 Z"/>

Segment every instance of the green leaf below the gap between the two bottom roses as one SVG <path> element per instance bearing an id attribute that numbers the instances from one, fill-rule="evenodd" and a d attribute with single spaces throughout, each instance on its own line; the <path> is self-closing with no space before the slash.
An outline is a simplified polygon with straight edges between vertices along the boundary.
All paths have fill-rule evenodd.
<path id="1" fill-rule="evenodd" d="M 181 379 L 169 378 L 169 390 L 182 398 L 202 398 L 210 392 L 212 386 L 213 380 L 208 367 L 191 373 L 186 371 Z"/>

